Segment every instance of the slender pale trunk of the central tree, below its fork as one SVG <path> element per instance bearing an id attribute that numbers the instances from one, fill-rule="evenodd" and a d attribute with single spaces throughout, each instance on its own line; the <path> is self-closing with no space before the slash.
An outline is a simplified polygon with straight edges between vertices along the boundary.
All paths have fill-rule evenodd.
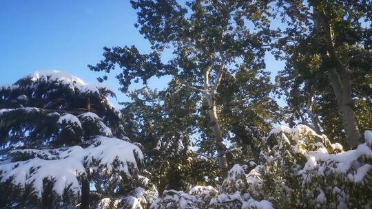
<path id="1" fill-rule="evenodd" d="M 211 120 L 211 128 L 213 130 L 217 146 L 218 165 L 220 166 L 220 170 L 225 173 L 227 169 L 226 146 L 223 143 L 223 135 L 221 133 L 220 124 L 218 122 L 216 100 L 214 100 L 213 96 L 211 95 L 207 95 L 205 98 L 208 102 L 209 120 Z"/>

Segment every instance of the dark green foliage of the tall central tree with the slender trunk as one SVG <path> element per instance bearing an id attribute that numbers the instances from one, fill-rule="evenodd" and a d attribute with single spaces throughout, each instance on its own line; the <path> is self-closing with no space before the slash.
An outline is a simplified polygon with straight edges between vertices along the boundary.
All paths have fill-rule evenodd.
<path id="1" fill-rule="evenodd" d="M 134 102 L 125 104 L 125 129 L 138 131 L 132 131 L 130 138 L 143 144 L 147 162 L 153 163 L 149 169 L 172 170 L 172 173 L 169 170 L 156 175 L 161 190 L 185 188 L 186 184 L 181 182 L 169 186 L 169 182 L 177 178 L 186 181 L 192 177 L 188 181 L 192 185 L 205 184 L 205 179 L 212 183 L 215 175 L 223 175 L 214 170 L 218 157 L 216 133 L 208 115 L 211 107 L 195 91 L 195 88 L 206 88 L 205 73 L 209 67 L 210 87 L 204 91 L 212 91 L 216 86 L 213 100 L 216 100 L 222 135 L 231 144 L 231 151 L 227 150 L 231 166 L 252 156 L 251 150 L 262 131 L 268 131 L 273 121 L 280 121 L 278 104 L 270 98 L 272 88 L 265 84 L 269 83 L 269 73 L 262 70 L 267 51 L 265 44 L 270 42 L 269 36 L 276 36 L 269 30 L 271 14 L 266 11 L 269 6 L 262 1 L 131 3 L 138 11 L 136 27 L 151 43 L 152 52 L 141 54 L 134 46 L 105 47 L 103 61 L 89 67 L 105 73 L 119 70 L 116 78 L 125 93 L 132 81 L 142 80 L 146 84 L 154 76 L 172 76 L 164 91 L 140 89 L 130 94 Z M 164 61 L 163 52 L 172 53 L 172 58 Z M 220 81 L 218 74 L 222 74 Z M 107 76 L 99 78 L 100 81 L 106 79 Z M 159 154 L 153 151 L 156 143 L 161 137 L 170 139 L 180 134 L 193 140 L 197 148 L 196 153 L 191 154 L 192 160 L 189 155 L 169 159 L 169 153 L 163 153 L 161 159 L 168 155 L 169 166 L 159 167 L 160 162 L 156 163 L 155 157 Z M 255 155 L 259 153 L 255 152 Z M 197 157 L 198 154 L 207 157 Z M 201 164 L 194 161 L 209 164 L 210 172 L 196 175 L 203 168 L 194 168 L 192 164 Z M 173 164 L 184 164 L 194 174 Z"/>

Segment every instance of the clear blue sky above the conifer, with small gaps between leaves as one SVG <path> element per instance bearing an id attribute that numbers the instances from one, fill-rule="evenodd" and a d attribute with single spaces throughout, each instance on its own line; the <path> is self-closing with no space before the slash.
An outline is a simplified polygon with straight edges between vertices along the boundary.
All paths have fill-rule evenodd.
<path id="1" fill-rule="evenodd" d="M 45 69 L 96 82 L 101 74 L 91 72 L 87 64 L 101 61 L 104 46 L 136 45 L 148 52 L 149 43 L 134 28 L 135 22 L 136 11 L 127 0 L 2 0 L 0 84 Z M 282 63 L 267 57 L 271 74 L 281 67 Z M 114 78 L 107 85 L 118 89 Z M 164 80 L 152 80 L 150 87 L 164 87 Z M 122 93 L 116 94 L 118 100 L 127 100 Z"/>

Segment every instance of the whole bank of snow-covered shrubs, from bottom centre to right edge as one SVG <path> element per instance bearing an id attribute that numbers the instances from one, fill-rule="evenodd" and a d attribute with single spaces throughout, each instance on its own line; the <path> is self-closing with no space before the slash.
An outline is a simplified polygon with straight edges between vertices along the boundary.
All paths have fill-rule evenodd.
<path id="1" fill-rule="evenodd" d="M 260 159 L 234 165 L 218 189 L 166 190 L 151 208 L 371 208 L 372 131 L 364 136 L 343 151 L 307 126 L 280 126 L 262 139 Z"/>

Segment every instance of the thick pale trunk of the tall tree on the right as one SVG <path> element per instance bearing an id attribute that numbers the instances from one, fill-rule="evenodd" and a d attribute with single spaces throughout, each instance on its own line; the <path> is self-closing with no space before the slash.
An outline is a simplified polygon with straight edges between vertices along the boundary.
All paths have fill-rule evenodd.
<path id="1" fill-rule="evenodd" d="M 351 73 L 342 63 L 338 53 L 333 45 L 333 35 L 331 24 L 324 12 L 317 12 L 318 20 L 322 21 L 324 26 L 325 40 L 327 43 L 327 53 L 334 67 L 328 69 L 329 81 L 333 94 L 337 101 L 338 111 L 342 118 L 342 124 L 347 133 L 351 146 L 360 144 L 361 135 L 355 121 L 353 113 L 353 98 L 351 97 Z"/>

